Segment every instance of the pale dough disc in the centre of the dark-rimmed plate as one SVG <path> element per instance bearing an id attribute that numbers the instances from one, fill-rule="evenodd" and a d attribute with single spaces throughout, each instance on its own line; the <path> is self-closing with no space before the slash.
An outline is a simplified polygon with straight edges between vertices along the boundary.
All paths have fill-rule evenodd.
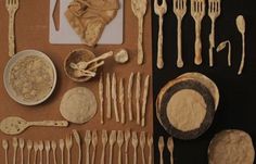
<path id="1" fill-rule="evenodd" d="M 175 128 L 190 131 L 201 127 L 206 115 L 206 103 L 199 92 L 183 89 L 172 96 L 166 111 Z"/>

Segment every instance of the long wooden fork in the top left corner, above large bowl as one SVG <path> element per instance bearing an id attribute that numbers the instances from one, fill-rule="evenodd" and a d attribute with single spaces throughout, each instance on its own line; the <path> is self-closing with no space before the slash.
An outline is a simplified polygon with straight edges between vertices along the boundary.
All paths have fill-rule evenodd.
<path id="1" fill-rule="evenodd" d="M 14 22 L 15 14 L 18 9 L 18 0 L 7 0 L 5 7 L 9 12 L 9 55 L 13 56 L 15 53 Z"/>

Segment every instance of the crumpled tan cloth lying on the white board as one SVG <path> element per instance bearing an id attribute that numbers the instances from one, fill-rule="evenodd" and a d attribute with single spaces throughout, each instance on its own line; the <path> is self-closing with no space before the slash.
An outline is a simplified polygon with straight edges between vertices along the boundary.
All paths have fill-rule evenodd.
<path id="1" fill-rule="evenodd" d="M 74 0 L 65 16 L 81 40 L 93 47 L 118 9 L 118 0 Z"/>

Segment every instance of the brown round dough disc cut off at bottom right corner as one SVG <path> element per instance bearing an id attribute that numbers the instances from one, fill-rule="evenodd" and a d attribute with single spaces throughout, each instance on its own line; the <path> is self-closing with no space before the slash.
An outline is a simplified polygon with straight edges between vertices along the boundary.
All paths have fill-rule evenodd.
<path id="1" fill-rule="evenodd" d="M 254 159 L 252 138 L 242 130 L 220 131 L 208 148 L 209 164 L 253 164 Z"/>

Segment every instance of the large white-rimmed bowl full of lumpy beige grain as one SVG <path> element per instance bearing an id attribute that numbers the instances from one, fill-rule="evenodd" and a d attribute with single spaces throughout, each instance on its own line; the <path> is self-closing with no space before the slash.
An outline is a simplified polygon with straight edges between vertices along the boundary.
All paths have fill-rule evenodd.
<path id="1" fill-rule="evenodd" d="M 8 62 L 3 83 L 14 101 L 24 105 L 36 105 L 52 94 L 56 85 L 56 70 L 44 53 L 24 50 Z"/>

